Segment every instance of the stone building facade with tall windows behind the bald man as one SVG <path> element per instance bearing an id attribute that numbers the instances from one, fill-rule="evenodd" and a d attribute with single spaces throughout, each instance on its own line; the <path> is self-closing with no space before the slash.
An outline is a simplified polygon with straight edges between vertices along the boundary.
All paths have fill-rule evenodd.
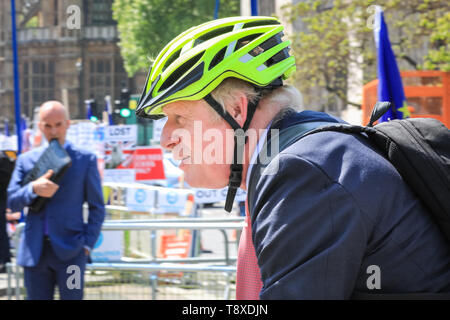
<path id="1" fill-rule="evenodd" d="M 10 0 L 0 0 L 0 128 L 14 123 Z M 72 119 L 84 119 L 84 101 L 138 93 L 145 75 L 129 78 L 120 56 L 113 0 L 16 1 L 21 113 L 32 119 L 42 102 L 59 100 Z"/>

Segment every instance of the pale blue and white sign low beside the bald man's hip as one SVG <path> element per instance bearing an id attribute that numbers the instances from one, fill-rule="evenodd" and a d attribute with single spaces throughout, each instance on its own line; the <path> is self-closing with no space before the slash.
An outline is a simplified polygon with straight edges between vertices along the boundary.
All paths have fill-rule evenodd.
<path id="1" fill-rule="evenodd" d="M 120 261 L 123 257 L 123 231 L 102 231 L 91 252 L 94 262 Z"/>

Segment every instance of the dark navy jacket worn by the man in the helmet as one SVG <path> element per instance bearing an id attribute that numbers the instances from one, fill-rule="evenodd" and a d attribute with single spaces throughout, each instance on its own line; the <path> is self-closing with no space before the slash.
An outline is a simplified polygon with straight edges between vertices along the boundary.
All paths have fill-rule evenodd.
<path id="1" fill-rule="evenodd" d="M 291 113 L 272 128 L 327 119 L 334 121 Z M 275 159 L 275 175 L 250 180 L 261 299 L 450 292 L 450 245 L 364 137 L 316 133 Z M 380 289 L 373 288 L 376 273 Z"/>

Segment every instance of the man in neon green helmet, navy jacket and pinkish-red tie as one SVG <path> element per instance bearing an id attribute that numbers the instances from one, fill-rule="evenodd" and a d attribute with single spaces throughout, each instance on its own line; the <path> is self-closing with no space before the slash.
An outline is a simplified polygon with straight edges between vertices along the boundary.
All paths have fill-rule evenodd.
<path id="1" fill-rule="evenodd" d="M 450 291 L 445 238 L 387 160 L 357 135 L 292 139 L 342 120 L 296 111 L 282 31 L 276 18 L 231 17 L 183 32 L 155 59 L 136 110 L 167 117 L 161 145 L 190 186 L 228 185 L 227 211 L 247 190 L 236 298 Z M 381 275 L 372 283 L 367 270 Z"/>

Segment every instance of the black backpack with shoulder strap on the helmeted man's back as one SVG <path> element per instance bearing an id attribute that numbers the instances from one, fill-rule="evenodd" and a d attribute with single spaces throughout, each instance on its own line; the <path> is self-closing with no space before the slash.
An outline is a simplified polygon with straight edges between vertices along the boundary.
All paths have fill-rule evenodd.
<path id="1" fill-rule="evenodd" d="M 365 134 L 422 200 L 450 242 L 450 130 L 432 118 L 392 120 L 373 126 L 390 105 L 378 102 L 367 126 L 324 122 L 294 125 L 298 128 L 280 132 L 279 150 L 317 132 Z M 253 182 L 260 172 L 252 170 L 248 186 L 250 206 L 255 193 Z"/>

